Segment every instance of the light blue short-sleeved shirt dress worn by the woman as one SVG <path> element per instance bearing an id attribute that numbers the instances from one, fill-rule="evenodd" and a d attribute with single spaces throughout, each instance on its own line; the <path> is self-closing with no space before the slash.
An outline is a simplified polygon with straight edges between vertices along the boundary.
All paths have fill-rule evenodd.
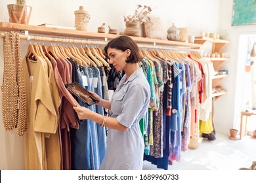
<path id="1" fill-rule="evenodd" d="M 148 111 L 150 86 L 141 68 L 125 80 L 126 75 L 112 96 L 110 115 L 128 129 L 108 129 L 106 156 L 101 170 L 142 169 L 144 141 L 139 120 Z"/>

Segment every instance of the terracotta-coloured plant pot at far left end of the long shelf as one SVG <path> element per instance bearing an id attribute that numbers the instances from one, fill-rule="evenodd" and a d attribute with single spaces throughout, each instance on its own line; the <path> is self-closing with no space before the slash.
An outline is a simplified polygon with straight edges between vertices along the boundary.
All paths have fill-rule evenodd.
<path id="1" fill-rule="evenodd" d="M 10 22 L 28 24 L 32 7 L 26 5 L 26 0 L 16 0 L 16 4 L 7 5 Z"/>

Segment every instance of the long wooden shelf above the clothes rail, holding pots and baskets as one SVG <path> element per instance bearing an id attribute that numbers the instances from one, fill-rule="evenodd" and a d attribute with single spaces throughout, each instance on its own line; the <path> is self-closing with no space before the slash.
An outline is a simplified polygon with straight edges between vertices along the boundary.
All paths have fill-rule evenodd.
<path id="1" fill-rule="evenodd" d="M 93 33 L 87 31 L 77 31 L 70 29 L 58 29 L 53 27 L 44 27 L 37 25 L 25 25 L 25 24 L 14 24 L 9 22 L 0 22 L 0 31 L 28 31 L 30 34 L 37 35 L 52 35 L 58 37 L 74 37 L 80 39 L 105 39 L 111 40 L 119 35 L 112 35 L 106 33 Z M 202 44 L 179 42 L 179 41 L 167 41 L 160 39 L 148 39 L 144 37 L 131 37 L 137 43 L 145 43 L 152 45 L 166 45 L 166 46 L 181 46 L 186 48 L 200 48 Z"/>

